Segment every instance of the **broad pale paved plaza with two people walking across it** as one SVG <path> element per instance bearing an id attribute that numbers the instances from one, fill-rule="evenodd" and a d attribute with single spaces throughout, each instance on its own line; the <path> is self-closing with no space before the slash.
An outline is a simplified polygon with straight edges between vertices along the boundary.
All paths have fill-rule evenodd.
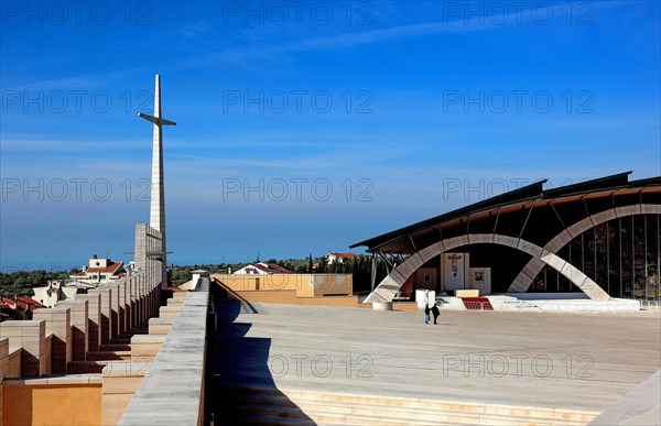
<path id="1" fill-rule="evenodd" d="M 661 368 L 661 317 L 217 305 L 221 384 L 603 411 Z"/>

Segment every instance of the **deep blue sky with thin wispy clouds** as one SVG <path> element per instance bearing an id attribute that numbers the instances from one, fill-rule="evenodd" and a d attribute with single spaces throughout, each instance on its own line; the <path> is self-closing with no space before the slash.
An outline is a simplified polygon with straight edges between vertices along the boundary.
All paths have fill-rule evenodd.
<path id="1" fill-rule="evenodd" d="M 1 3 L 3 272 L 131 259 L 155 74 L 177 264 L 661 174 L 658 1 L 76 4 Z"/>

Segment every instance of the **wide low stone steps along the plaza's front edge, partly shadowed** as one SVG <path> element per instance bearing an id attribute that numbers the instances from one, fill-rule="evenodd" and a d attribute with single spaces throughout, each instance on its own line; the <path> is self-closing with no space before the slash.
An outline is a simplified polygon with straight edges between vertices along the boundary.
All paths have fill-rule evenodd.
<path id="1" fill-rule="evenodd" d="M 228 386 L 221 397 L 218 425 L 585 425 L 599 414 L 274 387 Z"/>

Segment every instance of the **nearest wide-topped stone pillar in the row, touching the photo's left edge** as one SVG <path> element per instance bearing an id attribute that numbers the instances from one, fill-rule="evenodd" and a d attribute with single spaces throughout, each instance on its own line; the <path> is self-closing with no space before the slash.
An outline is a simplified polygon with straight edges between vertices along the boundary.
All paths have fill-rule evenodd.
<path id="1" fill-rule="evenodd" d="M 46 323 L 19 320 L 0 324 L 0 338 L 9 339 L 10 348 L 22 348 L 21 375 L 39 378 L 46 370 Z"/>

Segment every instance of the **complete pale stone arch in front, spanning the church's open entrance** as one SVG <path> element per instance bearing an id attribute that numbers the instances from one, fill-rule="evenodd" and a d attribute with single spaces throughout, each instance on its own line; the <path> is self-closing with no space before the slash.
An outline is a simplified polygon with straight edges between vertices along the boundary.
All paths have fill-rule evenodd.
<path id="1" fill-rule="evenodd" d="M 578 269 L 573 266 L 570 262 L 564 261 L 555 253 L 551 253 L 530 241 L 514 237 L 507 237 L 499 233 L 473 233 L 441 240 L 411 254 L 409 259 L 392 270 L 388 276 L 386 276 L 383 281 L 379 283 L 377 288 L 375 288 L 375 291 L 367 296 L 364 303 L 391 302 L 397 292 L 399 292 L 402 285 L 407 282 L 409 276 L 411 276 L 430 259 L 457 247 L 477 243 L 500 244 L 521 250 L 522 252 L 532 255 L 533 259 L 539 259 L 540 262 L 550 265 L 566 276 L 589 298 L 594 301 L 608 301 L 610 298 L 610 296 L 608 296 L 608 294 L 604 292 L 602 287 L 588 278 L 587 275 L 585 275 Z"/>

